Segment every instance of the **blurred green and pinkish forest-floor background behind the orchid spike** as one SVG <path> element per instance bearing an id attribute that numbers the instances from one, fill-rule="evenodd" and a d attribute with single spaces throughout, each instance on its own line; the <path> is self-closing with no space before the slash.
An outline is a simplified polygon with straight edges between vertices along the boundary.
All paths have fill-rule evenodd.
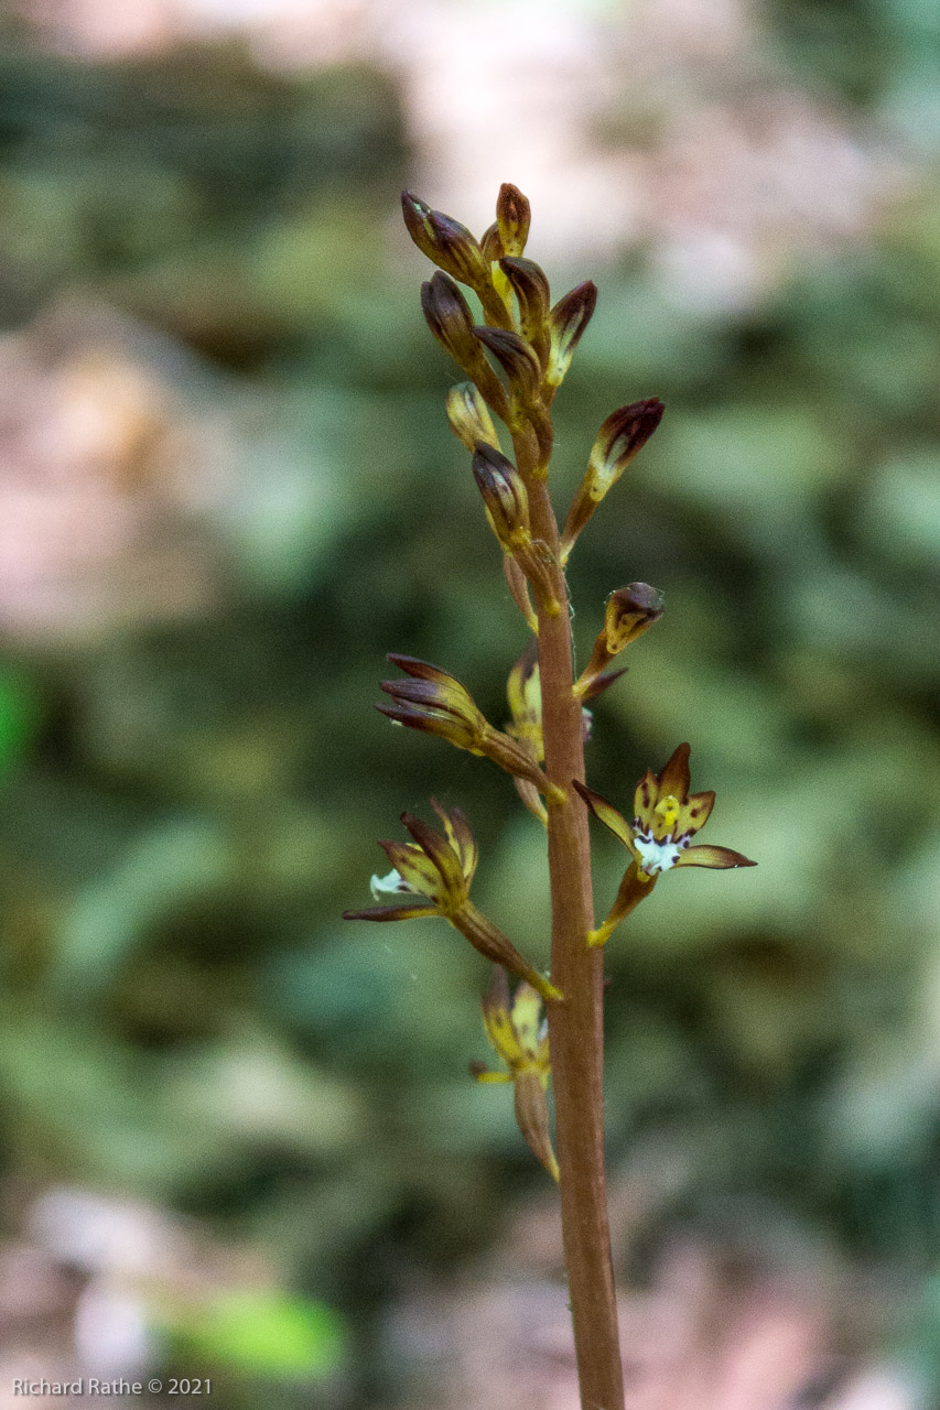
<path id="1" fill-rule="evenodd" d="M 501 180 L 601 290 L 560 506 L 668 405 L 573 560 L 582 651 L 668 603 L 589 778 L 689 739 L 759 862 L 608 950 L 631 1407 L 934 1403 L 939 94 L 930 0 L 6 0 L 0 1406 L 576 1406 L 486 964 L 339 921 L 436 794 L 546 957 L 538 823 L 371 708 L 395 650 L 500 722 L 525 643 L 397 206 Z"/>

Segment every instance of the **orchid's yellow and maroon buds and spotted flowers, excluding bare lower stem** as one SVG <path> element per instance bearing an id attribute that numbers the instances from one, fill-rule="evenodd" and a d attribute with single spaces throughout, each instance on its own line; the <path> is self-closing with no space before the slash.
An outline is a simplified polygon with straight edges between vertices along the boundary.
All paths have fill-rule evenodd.
<path id="1" fill-rule="evenodd" d="M 597 950 L 652 894 L 665 871 L 687 866 L 754 866 L 727 847 L 692 845 L 711 812 L 714 794 L 689 791 L 687 744 L 675 750 L 659 774 L 651 770 L 644 774 L 629 821 L 580 778 L 572 778 L 570 773 L 559 777 L 558 770 L 552 776 L 546 764 L 548 697 L 542 678 L 546 664 L 541 660 L 541 646 L 546 633 L 555 630 L 553 623 L 569 612 L 563 570 L 597 506 L 659 426 L 663 407 L 658 398 L 645 398 L 607 417 L 559 532 L 546 489 L 553 440 L 550 407 L 594 312 L 597 290 L 590 282 L 580 283 L 552 303 L 545 272 L 524 254 L 529 203 L 515 186 L 501 188 L 495 223 L 480 240 L 408 192 L 402 209 L 411 238 L 438 265 L 422 286 L 425 319 L 466 378 L 447 396 L 447 420 L 473 457 L 473 475 L 501 550 L 508 589 L 532 636 L 510 671 L 511 718 L 504 729 L 486 719 L 454 675 L 411 656 L 388 657 L 402 674 L 382 682 L 391 704 L 378 709 L 398 725 L 436 735 L 498 764 L 512 777 L 522 802 L 549 829 L 549 836 L 552 811 L 579 808 L 576 795 L 614 832 L 629 862 L 604 922 L 580 932 L 583 952 Z M 459 285 L 471 290 L 481 320 Z M 512 457 L 502 448 L 495 422 L 505 427 Z M 607 599 L 587 666 L 565 685 L 565 711 L 577 712 L 573 728 L 580 733 L 579 750 L 590 737 L 589 702 L 622 674 L 615 658 L 662 612 L 662 594 L 644 582 L 618 588 Z M 558 713 L 556 709 L 556 718 Z M 433 808 L 443 830 L 402 814 L 411 840 L 380 843 L 392 870 L 373 877 L 378 904 L 347 911 L 346 916 L 364 921 L 440 916 L 494 963 L 494 979 L 483 1000 L 484 1029 L 507 1070 L 494 1073 L 474 1065 L 473 1072 L 480 1081 L 512 1083 L 519 1128 L 543 1166 L 559 1179 L 546 1105 L 550 1062 L 543 1005 L 563 1005 L 566 995 L 470 901 L 477 867 L 473 833 L 459 808 L 446 809 L 438 802 Z M 519 979 L 514 995 L 505 971 Z"/>

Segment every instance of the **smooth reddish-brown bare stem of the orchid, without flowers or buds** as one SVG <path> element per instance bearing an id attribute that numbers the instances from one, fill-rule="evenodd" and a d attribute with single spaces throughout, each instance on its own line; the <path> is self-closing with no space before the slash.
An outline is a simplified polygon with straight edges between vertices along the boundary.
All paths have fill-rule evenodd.
<path id="1" fill-rule="evenodd" d="M 559 533 L 543 482 L 534 481 L 531 440 L 514 437 L 529 479 L 532 532 L 558 554 Z M 607 1221 L 603 1098 L 603 952 L 587 948 L 593 928 L 587 809 L 572 788 L 584 781 L 582 706 L 573 694 L 567 587 L 556 570 L 558 616 L 539 609 L 539 674 L 545 771 L 566 792 L 549 805 L 552 983 L 565 1003 L 549 1004 L 552 1084 L 562 1228 L 583 1410 L 624 1410 L 624 1378 Z"/>

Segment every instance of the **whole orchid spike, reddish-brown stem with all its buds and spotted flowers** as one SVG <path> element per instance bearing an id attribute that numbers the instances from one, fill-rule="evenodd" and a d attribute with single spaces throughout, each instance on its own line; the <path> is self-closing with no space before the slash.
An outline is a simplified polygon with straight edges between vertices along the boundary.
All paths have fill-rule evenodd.
<path id="1" fill-rule="evenodd" d="M 586 702 L 622 674 L 621 667 L 613 667 L 615 657 L 662 616 L 663 599 L 644 582 L 613 592 L 590 660 L 576 678 L 565 565 L 600 502 L 656 430 L 662 403 L 648 398 L 607 417 L 560 532 L 548 482 L 550 407 L 590 323 L 597 289 L 580 283 L 552 305 L 543 271 L 524 254 L 531 212 L 515 186 L 501 188 L 497 219 L 480 240 L 408 192 L 402 210 L 414 243 L 438 265 L 422 286 L 425 317 L 469 378 L 447 396 L 447 420 L 473 455 L 510 594 L 532 637 L 510 671 L 511 721 L 504 730 L 488 723 L 456 677 L 411 656 L 390 656 L 405 678 L 382 682 L 392 704 L 380 709 L 398 725 L 438 735 L 497 763 L 545 826 L 550 976 L 470 901 L 477 846 L 457 808 L 433 805 L 443 832 L 402 814 L 412 840 L 380 843 L 392 870 L 371 883 L 375 900 L 385 904 L 346 915 L 364 921 L 439 916 L 497 966 L 483 1017 L 487 1038 L 508 1070 L 488 1072 L 481 1065 L 471 1070 L 480 1081 L 512 1083 L 519 1131 L 560 1187 L 582 1407 L 624 1410 L 604 1173 L 604 943 L 652 894 L 662 871 L 754 863 L 727 847 L 690 846 L 711 812 L 714 794 L 689 792 L 687 744 L 679 746 L 659 774 L 648 770 L 641 778 L 632 822 L 584 781 L 584 743 L 590 737 Z M 474 323 L 460 283 L 476 293 L 481 324 Z M 511 457 L 494 417 L 505 427 Z M 591 894 L 591 814 L 629 854 L 614 905 L 600 926 L 594 926 Z M 522 980 L 512 998 L 505 971 Z"/>

